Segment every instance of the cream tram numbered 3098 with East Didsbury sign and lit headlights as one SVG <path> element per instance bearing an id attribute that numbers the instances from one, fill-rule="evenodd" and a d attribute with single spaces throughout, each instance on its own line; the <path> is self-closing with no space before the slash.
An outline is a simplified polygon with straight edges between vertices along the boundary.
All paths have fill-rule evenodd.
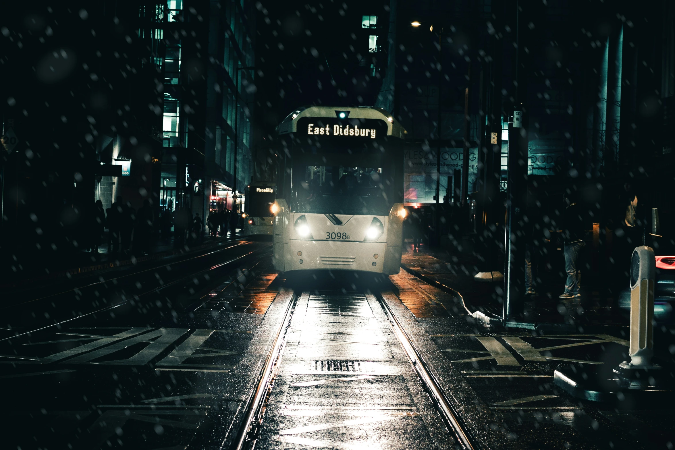
<path id="1" fill-rule="evenodd" d="M 277 134 L 275 269 L 398 273 L 402 125 L 375 107 L 307 107 Z"/>

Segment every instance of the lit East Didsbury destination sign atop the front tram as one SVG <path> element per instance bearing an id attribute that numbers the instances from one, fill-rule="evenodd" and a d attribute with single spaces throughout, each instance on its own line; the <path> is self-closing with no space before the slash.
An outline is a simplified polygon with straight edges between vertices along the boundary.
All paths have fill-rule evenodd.
<path id="1" fill-rule="evenodd" d="M 375 139 L 386 136 L 387 123 L 379 119 L 331 119 L 330 117 L 302 117 L 297 133 L 307 136 L 335 136 L 337 138 Z"/>

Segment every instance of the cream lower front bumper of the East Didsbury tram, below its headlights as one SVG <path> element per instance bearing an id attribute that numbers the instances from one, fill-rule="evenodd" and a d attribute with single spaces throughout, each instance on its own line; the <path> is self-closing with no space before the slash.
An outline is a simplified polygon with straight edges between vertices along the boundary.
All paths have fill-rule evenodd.
<path id="1" fill-rule="evenodd" d="M 287 271 L 332 269 L 383 273 L 387 252 L 396 253 L 396 250 L 387 248 L 386 242 L 289 240 L 288 250 Z"/>

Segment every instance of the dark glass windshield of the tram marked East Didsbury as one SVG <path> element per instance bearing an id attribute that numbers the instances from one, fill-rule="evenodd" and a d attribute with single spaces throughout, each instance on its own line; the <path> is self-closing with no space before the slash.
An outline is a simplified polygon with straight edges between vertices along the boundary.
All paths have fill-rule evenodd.
<path id="1" fill-rule="evenodd" d="M 297 165 L 294 210 L 318 214 L 387 215 L 391 183 L 382 167 Z"/>

